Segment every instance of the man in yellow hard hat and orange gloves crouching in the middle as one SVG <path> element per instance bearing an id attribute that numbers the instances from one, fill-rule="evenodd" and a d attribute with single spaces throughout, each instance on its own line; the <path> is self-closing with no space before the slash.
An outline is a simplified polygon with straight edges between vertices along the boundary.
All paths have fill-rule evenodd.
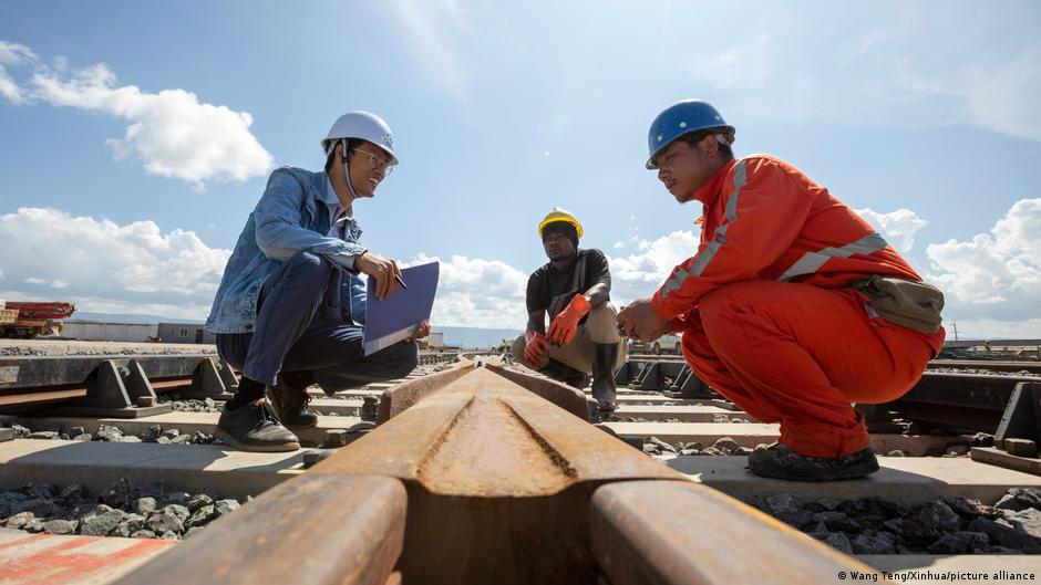
<path id="1" fill-rule="evenodd" d="M 528 325 L 512 347 L 514 358 L 576 388 L 592 375 L 592 397 L 600 412 L 615 410 L 615 372 L 625 348 L 611 305 L 607 257 L 579 250 L 581 223 L 560 208 L 538 224 L 549 263 L 528 278 Z M 546 313 L 549 331 L 546 331 Z"/>

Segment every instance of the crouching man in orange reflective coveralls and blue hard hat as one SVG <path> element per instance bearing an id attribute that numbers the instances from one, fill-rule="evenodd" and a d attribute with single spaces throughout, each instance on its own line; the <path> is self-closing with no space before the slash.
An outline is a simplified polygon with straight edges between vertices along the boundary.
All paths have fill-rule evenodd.
<path id="1" fill-rule="evenodd" d="M 914 284 L 921 278 L 826 188 L 772 156 L 735 160 L 733 140 L 705 102 L 679 102 L 655 119 L 647 168 L 677 201 L 704 206 L 701 243 L 651 297 L 619 313 L 619 330 L 642 341 L 682 332 L 702 380 L 781 422 L 780 442 L 749 457 L 753 473 L 867 476 L 878 461 L 851 403 L 889 401 L 914 386 L 944 344 L 942 296 L 931 326 L 916 327 L 925 331 L 883 318 L 882 304 L 853 286 L 875 275 L 924 286 Z"/>

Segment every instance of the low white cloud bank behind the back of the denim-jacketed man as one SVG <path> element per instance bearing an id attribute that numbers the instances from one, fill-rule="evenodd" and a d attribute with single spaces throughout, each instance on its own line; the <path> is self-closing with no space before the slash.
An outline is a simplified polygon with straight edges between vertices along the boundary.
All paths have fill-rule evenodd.
<path id="1" fill-rule="evenodd" d="M 162 233 L 152 221 L 120 226 L 51 208 L 0 216 L 0 250 L 6 275 L 24 283 L 3 297 L 194 318 L 209 312 L 230 255 L 190 231 Z"/>

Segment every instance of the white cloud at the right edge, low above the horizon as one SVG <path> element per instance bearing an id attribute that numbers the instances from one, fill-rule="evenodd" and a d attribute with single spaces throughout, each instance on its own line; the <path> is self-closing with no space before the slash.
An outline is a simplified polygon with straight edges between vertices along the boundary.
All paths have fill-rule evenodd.
<path id="1" fill-rule="evenodd" d="M 1009 328 L 1041 318 L 1041 199 L 1021 199 L 990 233 L 934 243 L 927 254 L 927 280 L 944 291 L 948 322 Z"/>

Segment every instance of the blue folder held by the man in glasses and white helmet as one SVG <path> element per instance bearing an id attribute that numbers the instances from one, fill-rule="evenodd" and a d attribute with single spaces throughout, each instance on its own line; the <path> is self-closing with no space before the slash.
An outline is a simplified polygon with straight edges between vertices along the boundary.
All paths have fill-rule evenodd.
<path id="1" fill-rule="evenodd" d="M 367 356 L 406 339 L 421 323 L 430 321 L 440 272 L 441 263 L 436 261 L 402 269 L 401 280 L 409 288 L 399 286 L 382 301 L 375 297 L 375 279 L 369 278 L 365 333 L 362 337 Z"/>

